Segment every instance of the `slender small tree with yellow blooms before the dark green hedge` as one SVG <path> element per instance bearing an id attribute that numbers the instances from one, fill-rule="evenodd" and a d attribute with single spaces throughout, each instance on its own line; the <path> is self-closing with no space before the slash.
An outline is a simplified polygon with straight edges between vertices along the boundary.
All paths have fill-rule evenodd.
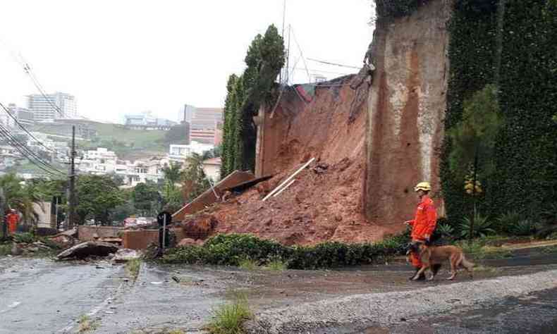
<path id="1" fill-rule="evenodd" d="M 499 112 L 497 87 L 484 89 L 464 101 L 463 118 L 449 130 L 452 151 L 449 154 L 451 171 L 463 180 L 463 190 L 472 197 L 470 240 L 474 235 L 476 198 L 482 192 L 480 178 L 488 179 L 494 171 L 496 137 L 503 125 Z"/>

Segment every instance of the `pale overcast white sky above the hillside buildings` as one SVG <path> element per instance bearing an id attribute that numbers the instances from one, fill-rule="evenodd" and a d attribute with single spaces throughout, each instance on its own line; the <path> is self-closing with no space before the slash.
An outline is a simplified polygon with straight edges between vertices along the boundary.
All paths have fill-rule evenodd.
<path id="1" fill-rule="evenodd" d="M 287 0 L 303 56 L 359 66 L 372 39 L 370 0 Z M 247 47 L 270 24 L 282 27 L 283 0 L 2 0 L 0 101 L 25 106 L 35 94 L 21 54 L 47 92 L 75 95 L 78 113 L 121 121 L 152 110 L 176 120 L 183 104 L 222 106 L 226 79 L 241 73 Z M 292 36 L 292 35 L 291 35 Z M 290 39 L 292 63 L 300 51 Z M 296 65 L 295 82 L 307 82 Z M 327 78 L 350 68 L 307 61 Z M 328 73 L 331 72 L 331 73 Z"/>

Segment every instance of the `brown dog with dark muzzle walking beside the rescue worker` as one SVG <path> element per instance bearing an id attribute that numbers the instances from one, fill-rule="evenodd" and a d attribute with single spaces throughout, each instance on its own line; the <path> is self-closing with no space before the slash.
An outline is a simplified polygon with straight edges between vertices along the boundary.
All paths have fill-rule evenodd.
<path id="1" fill-rule="evenodd" d="M 412 278 L 412 280 L 417 280 L 426 269 L 431 271 L 431 277 L 427 280 L 433 280 L 436 274 L 436 270 L 432 268 L 437 267 L 443 264 L 444 261 L 449 261 L 451 263 L 451 277 L 447 278 L 448 280 L 452 280 L 456 276 L 456 270 L 459 266 L 462 266 L 466 269 L 470 278 L 472 278 L 472 267 L 474 264 L 472 262 L 467 261 L 464 257 L 463 250 L 456 246 L 427 246 L 424 244 L 420 244 L 419 246 L 420 251 L 420 260 L 422 261 L 422 268 L 417 271 L 416 275 Z"/>

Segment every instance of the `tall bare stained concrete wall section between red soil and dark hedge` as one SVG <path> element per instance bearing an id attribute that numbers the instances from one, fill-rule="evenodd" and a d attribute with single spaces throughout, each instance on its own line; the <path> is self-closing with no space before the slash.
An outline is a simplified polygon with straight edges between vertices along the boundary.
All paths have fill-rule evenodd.
<path id="1" fill-rule="evenodd" d="M 402 226 L 412 218 L 413 186 L 422 180 L 440 195 L 436 152 L 446 111 L 450 12 L 451 1 L 431 0 L 411 16 L 377 22 L 364 196 L 371 221 Z"/>

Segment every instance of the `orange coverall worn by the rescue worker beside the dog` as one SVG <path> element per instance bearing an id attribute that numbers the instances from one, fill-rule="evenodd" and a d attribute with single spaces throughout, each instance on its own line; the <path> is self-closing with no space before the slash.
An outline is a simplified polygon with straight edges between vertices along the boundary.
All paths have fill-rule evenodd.
<path id="1" fill-rule="evenodd" d="M 431 237 L 437 223 L 437 211 L 429 197 L 426 195 L 422 197 L 422 202 L 417 206 L 415 218 L 409 223 L 412 226 L 412 233 L 410 235 L 412 242 L 425 242 L 426 235 Z M 422 266 L 422 261 L 420 261 L 420 257 L 417 254 L 412 252 L 410 259 L 412 260 L 412 266 L 416 268 Z"/>

